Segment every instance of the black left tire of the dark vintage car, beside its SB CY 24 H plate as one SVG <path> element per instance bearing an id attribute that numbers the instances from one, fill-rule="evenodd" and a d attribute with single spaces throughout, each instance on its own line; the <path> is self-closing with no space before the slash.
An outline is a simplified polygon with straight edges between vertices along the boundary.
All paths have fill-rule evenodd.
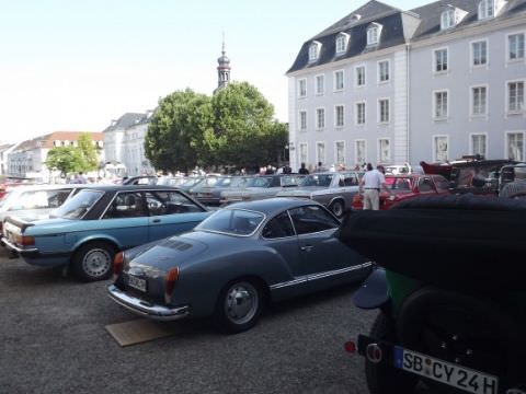
<path id="1" fill-rule="evenodd" d="M 395 323 L 382 312 L 378 314 L 370 328 L 370 337 L 389 343 L 397 341 Z M 407 372 L 387 363 L 373 363 L 365 359 L 365 378 L 370 394 L 411 394 L 419 381 Z"/>

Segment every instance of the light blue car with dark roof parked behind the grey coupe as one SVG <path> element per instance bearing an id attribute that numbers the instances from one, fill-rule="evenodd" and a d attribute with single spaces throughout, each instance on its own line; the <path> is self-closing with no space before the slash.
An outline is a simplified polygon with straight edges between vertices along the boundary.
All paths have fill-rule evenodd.
<path id="1" fill-rule="evenodd" d="M 2 244 L 37 266 L 70 266 L 85 281 L 105 279 L 118 251 L 193 229 L 210 212 L 173 187 L 94 186 L 52 219 L 8 218 Z"/>

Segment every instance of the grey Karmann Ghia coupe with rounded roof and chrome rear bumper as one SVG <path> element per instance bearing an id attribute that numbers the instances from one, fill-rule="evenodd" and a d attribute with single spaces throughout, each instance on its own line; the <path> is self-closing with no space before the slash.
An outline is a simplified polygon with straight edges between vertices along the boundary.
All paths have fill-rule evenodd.
<path id="1" fill-rule="evenodd" d="M 371 262 L 335 236 L 322 205 L 296 198 L 239 202 L 193 231 L 118 254 L 110 297 L 155 320 L 211 316 L 251 328 L 266 301 L 363 280 Z"/>

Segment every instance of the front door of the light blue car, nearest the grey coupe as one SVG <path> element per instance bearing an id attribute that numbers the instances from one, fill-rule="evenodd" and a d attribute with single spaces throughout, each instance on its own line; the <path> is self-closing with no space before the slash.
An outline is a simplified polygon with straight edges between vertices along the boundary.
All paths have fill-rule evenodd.
<path id="1" fill-rule="evenodd" d="M 192 230 L 209 212 L 178 190 L 145 192 L 150 217 L 148 241 Z"/>

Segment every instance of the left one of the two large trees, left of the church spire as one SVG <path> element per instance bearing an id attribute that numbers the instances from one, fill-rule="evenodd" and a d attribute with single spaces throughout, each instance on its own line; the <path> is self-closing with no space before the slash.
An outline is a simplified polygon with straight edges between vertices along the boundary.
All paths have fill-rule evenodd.
<path id="1" fill-rule="evenodd" d="M 148 125 L 145 154 L 156 169 L 172 172 L 208 163 L 205 136 L 213 123 L 208 96 L 190 89 L 176 91 L 159 101 Z"/>

